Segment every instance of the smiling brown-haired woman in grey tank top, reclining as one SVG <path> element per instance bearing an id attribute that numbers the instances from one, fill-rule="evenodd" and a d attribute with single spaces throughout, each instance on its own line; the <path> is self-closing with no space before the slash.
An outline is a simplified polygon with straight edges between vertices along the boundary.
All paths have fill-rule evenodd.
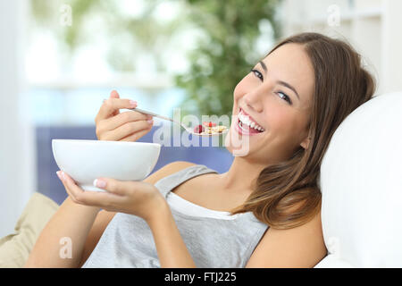
<path id="1" fill-rule="evenodd" d="M 313 267 L 326 255 L 322 156 L 339 124 L 373 92 L 372 76 L 347 43 L 316 33 L 285 39 L 234 90 L 228 137 L 238 132 L 248 150 L 228 172 L 175 162 L 142 182 L 99 178 L 105 193 L 84 192 L 61 174 L 69 198 L 27 266 Z M 133 106 L 113 92 L 96 116 L 98 139 L 146 134 L 150 118 L 118 112 Z M 247 135 L 251 127 L 239 114 L 262 131 Z M 70 259 L 59 255 L 63 237 L 72 241 Z"/>

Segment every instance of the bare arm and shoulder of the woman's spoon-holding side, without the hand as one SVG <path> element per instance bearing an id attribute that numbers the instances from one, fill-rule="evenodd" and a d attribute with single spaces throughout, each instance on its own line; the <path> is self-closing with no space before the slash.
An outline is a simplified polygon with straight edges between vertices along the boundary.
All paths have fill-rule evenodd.
<path id="1" fill-rule="evenodd" d="M 156 181 L 193 165 L 174 162 L 163 166 L 144 181 Z M 25 267 L 80 267 L 88 259 L 115 213 L 100 211 L 93 206 L 82 206 L 66 198 L 62 206 L 46 224 L 29 254 Z M 71 241 L 71 258 L 61 255 L 66 245 L 61 240 Z"/>

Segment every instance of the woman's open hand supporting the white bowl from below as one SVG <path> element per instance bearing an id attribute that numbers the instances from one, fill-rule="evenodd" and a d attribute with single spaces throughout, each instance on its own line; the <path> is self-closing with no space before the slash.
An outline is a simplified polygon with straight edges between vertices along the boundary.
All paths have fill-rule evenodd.
<path id="1" fill-rule="evenodd" d="M 98 178 L 94 185 L 105 192 L 85 191 L 65 172 L 59 178 L 72 201 L 85 206 L 97 206 L 106 211 L 134 214 L 147 222 L 158 210 L 166 206 L 166 200 L 156 187 L 144 181 L 118 181 Z"/>

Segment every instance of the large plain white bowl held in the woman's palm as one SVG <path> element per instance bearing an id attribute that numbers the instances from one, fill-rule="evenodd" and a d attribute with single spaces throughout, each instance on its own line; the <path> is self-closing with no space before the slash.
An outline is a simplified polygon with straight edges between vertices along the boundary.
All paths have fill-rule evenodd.
<path id="1" fill-rule="evenodd" d="M 95 179 L 142 181 L 155 167 L 161 145 L 145 142 L 53 139 L 53 156 L 60 170 L 66 172 L 82 189 L 94 187 Z"/>

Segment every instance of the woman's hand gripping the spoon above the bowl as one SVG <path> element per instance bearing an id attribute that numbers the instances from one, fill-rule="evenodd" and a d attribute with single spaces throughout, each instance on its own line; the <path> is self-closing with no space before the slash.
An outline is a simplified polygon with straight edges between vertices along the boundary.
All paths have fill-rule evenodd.
<path id="1" fill-rule="evenodd" d="M 151 115 L 140 114 L 136 111 L 120 113 L 123 108 L 135 108 L 130 99 L 121 99 L 113 90 L 110 98 L 96 114 L 96 137 L 104 141 L 129 141 L 133 142 L 146 135 L 153 126 Z"/>

